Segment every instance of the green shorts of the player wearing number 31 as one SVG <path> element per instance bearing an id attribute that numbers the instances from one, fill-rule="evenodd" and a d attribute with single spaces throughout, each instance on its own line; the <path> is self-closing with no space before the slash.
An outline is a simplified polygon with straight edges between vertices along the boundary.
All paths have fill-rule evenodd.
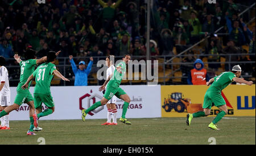
<path id="1" fill-rule="evenodd" d="M 52 108 L 54 106 L 54 102 L 51 95 L 34 93 L 35 108 L 42 108 L 42 103 L 44 103 L 44 105 L 48 108 Z"/>

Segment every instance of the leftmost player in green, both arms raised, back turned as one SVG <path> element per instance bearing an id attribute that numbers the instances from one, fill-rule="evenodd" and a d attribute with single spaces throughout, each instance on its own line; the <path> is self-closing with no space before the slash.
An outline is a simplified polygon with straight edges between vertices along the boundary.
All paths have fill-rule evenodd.
<path id="1" fill-rule="evenodd" d="M 14 55 L 15 60 L 20 65 L 20 81 L 16 88 L 17 95 L 14 100 L 14 104 L 11 106 L 7 106 L 2 112 L 0 112 L 0 117 L 7 115 L 11 111 L 18 109 L 19 106 L 21 106 L 23 103 L 28 104 L 30 106 L 29 116 L 30 116 L 30 128 L 27 132 L 27 135 L 35 135 L 33 132 L 34 129 L 34 120 L 33 115 L 35 113 L 35 107 L 34 107 L 34 100 L 33 97 L 29 91 L 29 87 L 27 90 L 22 90 L 21 86 L 24 85 L 24 83 L 27 81 L 27 78 L 33 73 L 35 70 L 35 66 L 37 64 L 41 64 L 43 62 L 46 62 L 46 56 L 42 57 L 38 60 L 36 60 L 36 52 L 32 49 L 27 49 L 24 53 L 25 60 L 20 60 L 20 57 L 18 54 Z M 29 84 L 30 86 L 30 84 Z"/>

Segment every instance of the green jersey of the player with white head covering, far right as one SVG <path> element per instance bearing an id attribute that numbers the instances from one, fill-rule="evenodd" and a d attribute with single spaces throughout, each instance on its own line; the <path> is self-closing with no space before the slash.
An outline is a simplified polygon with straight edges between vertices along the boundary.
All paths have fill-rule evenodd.
<path id="1" fill-rule="evenodd" d="M 226 88 L 231 82 L 232 79 L 236 77 L 234 73 L 231 71 L 226 71 L 218 75 L 217 77 L 214 77 L 214 82 L 210 87 L 208 88 L 208 91 L 214 90 L 221 92 L 224 88 Z"/>

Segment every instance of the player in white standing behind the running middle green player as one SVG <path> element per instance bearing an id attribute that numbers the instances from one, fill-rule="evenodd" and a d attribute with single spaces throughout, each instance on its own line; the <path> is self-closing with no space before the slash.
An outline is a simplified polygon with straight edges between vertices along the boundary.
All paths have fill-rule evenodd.
<path id="1" fill-rule="evenodd" d="M 108 78 L 112 73 L 114 73 L 115 66 L 113 65 L 112 60 L 114 60 L 113 55 L 106 57 L 106 65 L 108 66 L 108 69 L 106 71 L 106 74 L 107 74 L 106 78 Z M 108 86 L 108 84 L 106 86 Z M 117 125 L 117 107 L 115 106 L 116 103 L 117 103 L 117 96 L 114 95 L 106 104 L 106 107 L 108 108 L 108 121 L 106 121 L 106 123 L 102 125 Z M 112 123 L 111 123 L 111 119 L 113 119 Z"/>

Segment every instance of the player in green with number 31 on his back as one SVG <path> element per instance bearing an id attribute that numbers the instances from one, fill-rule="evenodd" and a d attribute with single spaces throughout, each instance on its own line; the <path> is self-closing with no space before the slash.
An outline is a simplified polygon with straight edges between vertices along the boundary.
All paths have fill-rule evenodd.
<path id="1" fill-rule="evenodd" d="M 35 89 L 34 89 L 34 103 L 36 114 L 33 115 L 34 126 L 38 127 L 38 119 L 43 116 L 50 115 L 54 112 L 54 102 L 51 96 L 51 81 L 53 78 L 53 74 L 57 77 L 61 78 L 63 81 L 69 81 L 69 79 L 63 77 L 59 71 L 56 70 L 56 66 L 54 64 L 56 60 L 56 53 L 50 51 L 47 53 L 47 61 L 38 66 L 38 68 L 28 77 L 27 82 L 21 87 L 23 90 L 26 90 L 31 82 L 31 80 L 35 77 Z M 42 103 L 48 107 L 48 109 L 42 112 Z"/>

